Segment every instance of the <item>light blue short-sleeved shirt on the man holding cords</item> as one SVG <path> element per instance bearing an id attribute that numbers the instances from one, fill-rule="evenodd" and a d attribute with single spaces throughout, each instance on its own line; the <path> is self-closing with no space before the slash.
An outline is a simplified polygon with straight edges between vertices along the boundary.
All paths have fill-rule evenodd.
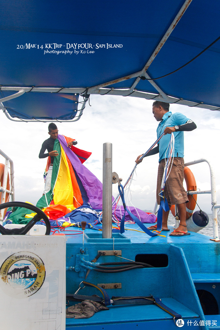
<path id="1" fill-rule="evenodd" d="M 164 132 L 166 127 L 183 125 L 189 119 L 190 118 L 187 118 L 186 116 L 178 112 L 176 112 L 175 114 L 172 114 L 170 111 L 166 112 L 162 118 L 162 121 L 158 125 L 157 138 L 161 136 L 161 134 Z M 174 132 L 173 134 L 175 138 L 174 157 L 184 157 L 184 134 L 183 132 Z M 167 158 L 168 156 L 168 150 L 166 152 L 166 149 L 168 147 L 169 141 L 170 141 L 170 134 L 163 135 L 159 141 L 159 162 L 162 159 Z"/>

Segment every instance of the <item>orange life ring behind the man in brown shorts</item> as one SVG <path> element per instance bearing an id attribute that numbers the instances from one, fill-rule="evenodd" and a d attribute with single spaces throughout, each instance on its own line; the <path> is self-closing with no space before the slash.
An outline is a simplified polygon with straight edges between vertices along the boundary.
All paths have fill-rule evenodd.
<path id="1" fill-rule="evenodd" d="M 186 189 L 187 191 L 196 190 L 196 180 L 189 169 L 189 167 L 184 167 L 184 179 L 186 181 Z M 186 219 L 188 219 L 192 214 L 196 207 L 197 195 L 187 195 L 189 202 L 186 203 Z M 175 216 L 175 205 L 171 205 L 170 211 L 172 215 Z"/>

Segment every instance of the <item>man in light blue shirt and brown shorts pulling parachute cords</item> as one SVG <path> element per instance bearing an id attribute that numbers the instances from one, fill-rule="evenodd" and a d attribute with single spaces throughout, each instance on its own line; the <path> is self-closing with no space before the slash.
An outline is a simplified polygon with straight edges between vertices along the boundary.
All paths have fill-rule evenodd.
<path id="1" fill-rule="evenodd" d="M 164 174 L 165 161 L 167 158 L 166 149 L 168 147 L 170 136 L 167 134 L 174 134 L 174 158 L 171 171 L 165 183 L 164 196 L 167 199 L 169 208 L 171 205 L 177 205 L 180 224 L 170 236 L 185 236 L 190 235 L 186 228 L 186 203 L 188 202 L 187 193 L 183 187 L 184 179 L 184 131 L 192 131 L 196 128 L 196 124 L 187 118 L 186 116 L 175 113 L 172 114 L 169 111 L 169 103 L 155 101 L 153 103 L 153 115 L 157 121 L 160 121 L 157 128 L 157 137 L 159 138 L 164 132 L 163 137 L 160 139 L 157 147 L 150 150 L 145 157 L 154 155 L 159 152 L 159 167 L 157 178 L 157 203 L 160 204 L 159 193 L 161 191 L 161 183 Z M 136 163 L 139 164 L 142 160 L 136 159 Z M 168 170 L 169 171 L 169 170 Z M 162 230 L 169 231 L 167 228 L 169 211 L 163 210 Z M 157 226 L 151 226 L 149 230 L 157 229 Z"/>

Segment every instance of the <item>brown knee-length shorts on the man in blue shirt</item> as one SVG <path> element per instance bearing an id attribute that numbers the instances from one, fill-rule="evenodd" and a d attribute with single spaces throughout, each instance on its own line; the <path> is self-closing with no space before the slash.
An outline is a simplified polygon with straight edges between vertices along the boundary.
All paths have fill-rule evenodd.
<path id="1" fill-rule="evenodd" d="M 157 176 L 157 204 L 160 205 L 160 196 L 161 183 L 164 174 L 165 159 L 162 159 L 158 167 L 158 176 Z M 169 169 L 167 172 L 169 173 Z M 170 174 L 165 183 L 164 196 L 167 199 L 168 205 L 177 205 L 181 203 L 187 203 L 188 197 L 185 189 L 183 188 L 183 179 L 184 179 L 184 159 L 181 157 L 174 157 L 173 164 L 171 167 Z"/>

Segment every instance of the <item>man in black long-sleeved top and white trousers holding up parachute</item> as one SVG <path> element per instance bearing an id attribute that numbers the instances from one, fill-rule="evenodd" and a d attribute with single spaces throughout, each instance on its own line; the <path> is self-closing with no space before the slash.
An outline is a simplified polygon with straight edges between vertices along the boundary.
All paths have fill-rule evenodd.
<path id="1" fill-rule="evenodd" d="M 48 134 L 50 135 L 50 138 L 43 142 L 39 153 L 39 158 L 46 158 L 48 156 L 51 157 L 51 164 L 46 176 L 43 195 L 46 194 L 51 189 L 51 178 L 52 178 L 54 157 L 58 156 L 58 152 L 54 150 L 54 142 L 57 139 L 58 129 L 54 123 L 50 123 L 48 126 L 48 130 L 49 130 Z M 68 142 L 67 147 L 71 147 L 72 145 L 75 146 L 76 144 L 77 141 Z M 46 149 L 48 153 L 45 153 Z"/>

